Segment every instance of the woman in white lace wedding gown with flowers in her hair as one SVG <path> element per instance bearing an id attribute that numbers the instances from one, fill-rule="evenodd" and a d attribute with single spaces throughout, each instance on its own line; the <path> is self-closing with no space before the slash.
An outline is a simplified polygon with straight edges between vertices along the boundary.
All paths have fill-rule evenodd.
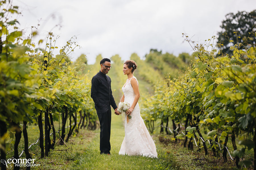
<path id="1" fill-rule="evenodd" d="M 125 115 L 125 137 L 119 155 L 157 157 L 156 145 L 140 115 L 138 104 L 140 98 L 139 83 L 137 78 L 133 76 L 136 68 L 137 64 L 133 60 L 125 61 L 123 65 L 123 74 L 127 74 L 128 79 L 122 87 L 123 97 L 120 102 L 127 102 L 131 107 Z M 128 118 L 128 115 L 131 115 L 131 119 Z"/>

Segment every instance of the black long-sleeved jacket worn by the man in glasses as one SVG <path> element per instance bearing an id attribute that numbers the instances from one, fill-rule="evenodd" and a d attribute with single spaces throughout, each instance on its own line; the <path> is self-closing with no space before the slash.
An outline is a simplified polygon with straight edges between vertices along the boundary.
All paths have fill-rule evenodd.
<path id="1" fill-rule="evenodd" d="M 95 109 L 100 109 L 101 112 L 108 111 L 110 105 L 113 109 L 117 108 L 112 95 L 111 79 L 101 71 L 92 77 L 91 98 L 95 103 Z"/>

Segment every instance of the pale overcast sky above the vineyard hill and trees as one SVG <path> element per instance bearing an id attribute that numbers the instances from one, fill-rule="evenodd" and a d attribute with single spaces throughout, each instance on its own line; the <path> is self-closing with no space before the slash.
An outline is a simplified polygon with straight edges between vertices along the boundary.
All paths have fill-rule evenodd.
<path id="1" fill-rule="evenodd" d="M 83 53 L 88 64 L 99 54 L 119 54 L 124 61 L 132 53 L 143 58 L 151 48 L 176 56 L 191 54 L 182 33 L 203 43 L 221 30 L 226 14 L 256 9 L 255 0 L 13 0 L 13 5 L 22 13 L 19 28 L 29 33 L 31 26 L 38 27 L 35 42 L 53 32 L 62 47 L 76 36 L 80 49 L 70 57 L 74 61 Z"/>

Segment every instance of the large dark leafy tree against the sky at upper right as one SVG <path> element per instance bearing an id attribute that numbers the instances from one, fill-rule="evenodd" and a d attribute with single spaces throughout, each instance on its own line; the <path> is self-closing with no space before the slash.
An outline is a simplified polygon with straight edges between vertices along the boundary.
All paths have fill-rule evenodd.
<path id="1" fill-rule="evenodd" d="M 236 14 L 229 13 L 226 15 L 226 20 L 222 21 L 221 32 L 218 32 L 218 42 L 221 53 L 227 53 L 230 46 L 240 44 L 239 48 L 247 48 L 255 45 L 256 38 L 252 34 L 256 31 L 256 10 L 250 13 L 241 11 Z"/>

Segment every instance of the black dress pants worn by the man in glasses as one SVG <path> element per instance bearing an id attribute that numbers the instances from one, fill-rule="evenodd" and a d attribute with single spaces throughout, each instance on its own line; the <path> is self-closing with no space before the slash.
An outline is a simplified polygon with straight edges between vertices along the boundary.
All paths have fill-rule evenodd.
<path id="1" fill-rule="evenodd" d="M 102 112 L 96 108 L 100 121 L 100 154 L 110 154 L 110 126 L 111 126 L 111 108 Z"/>

